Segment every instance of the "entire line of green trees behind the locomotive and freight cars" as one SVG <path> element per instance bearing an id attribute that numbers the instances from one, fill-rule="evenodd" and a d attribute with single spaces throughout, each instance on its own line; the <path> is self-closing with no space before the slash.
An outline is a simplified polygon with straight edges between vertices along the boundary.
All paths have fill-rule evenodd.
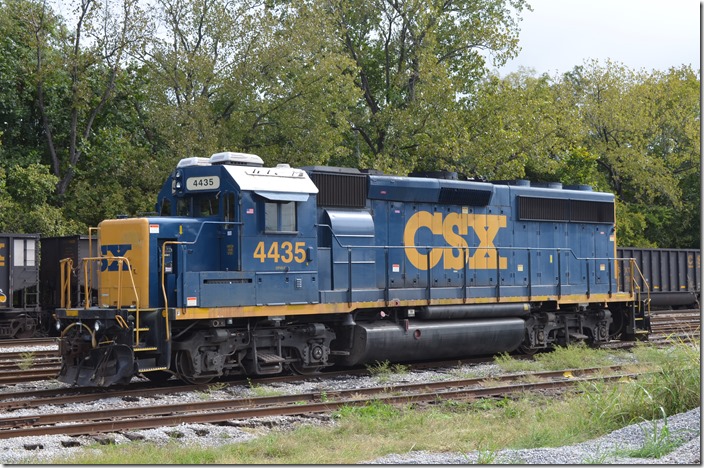
<path id="1" fill-rule="evenodd" d="M 183 157 L 588 184 L 700 239 L 698 70 L 492 73 L 525 0 L 0 0 L 0 230 L 153 210 Z"/>

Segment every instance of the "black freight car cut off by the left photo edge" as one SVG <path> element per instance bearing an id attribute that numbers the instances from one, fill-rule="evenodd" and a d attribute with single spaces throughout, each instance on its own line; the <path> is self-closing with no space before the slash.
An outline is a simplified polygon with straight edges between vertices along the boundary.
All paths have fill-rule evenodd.
<path id="1" fill-rule="evenodd" d="M 41 326 L 38 234 L 0 234 L 0 338 L 28 338 Z"/>

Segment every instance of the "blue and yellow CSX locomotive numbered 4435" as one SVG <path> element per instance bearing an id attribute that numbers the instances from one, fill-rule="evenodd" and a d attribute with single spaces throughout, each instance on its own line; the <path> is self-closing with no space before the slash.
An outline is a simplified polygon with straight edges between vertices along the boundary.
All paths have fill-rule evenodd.
<path id="1" fill-rule="evenodd" d="M 616 258 L 614 196 L 586 186 L 226 152 L 181 160 L 156 208 L 100 223 L 83 267 L 98 303 L 67 293 L 55 312 L 60 380 L 205 383 L 598 345 L 649 326 L 637 271 Z"/>

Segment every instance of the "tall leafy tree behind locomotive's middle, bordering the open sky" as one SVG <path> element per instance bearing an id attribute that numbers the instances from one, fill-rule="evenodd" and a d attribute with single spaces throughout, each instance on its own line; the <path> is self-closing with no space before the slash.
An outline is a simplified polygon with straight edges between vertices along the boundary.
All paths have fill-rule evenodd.
<path id="1" fill-rule="evenodd" d="M 394 172 L 461 155 L 459 98 L 517 52 L 523 0 L 324 2 L 357 67 L 363 99 L 352 117 L 361 165 Z M 449 128 L 448 128 L 449 127 Z M 449 131 L 448 131 L 449 130 Z M 442 161 L 437 161 L 442 157 Z"/>

